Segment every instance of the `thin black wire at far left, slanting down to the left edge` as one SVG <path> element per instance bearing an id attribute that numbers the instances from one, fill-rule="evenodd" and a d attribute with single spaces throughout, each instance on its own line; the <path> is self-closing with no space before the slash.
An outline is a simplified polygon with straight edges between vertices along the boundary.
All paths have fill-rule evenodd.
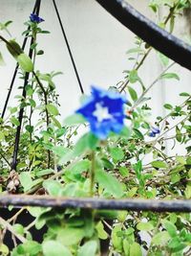
<path id="1" fill-rule="evenodd" d="M 35 4 L 34 4 L 32 13 L 34 13 L 35 11 L 36 11 L 36 12 L 39 12 L 39 11 L 37 10 L 37 2 L 38 2 L 38 1 L 36 1 Z M 29 30 L 29 29 L 30 29 L 30 26 L 28 27 L 28 30 Z M 27 34 L 25 35 L 25 38 L 24 38 L 24 41 L 23 41 L 23 44 L 22 44 L 22 50 L 23 50 L 23 51 L 25 50 L 25 46 L 26 46 L 27 40 L 28 40 L 28 38 L 29 38 L 28 35 L 29 35 L 29 33 L 27 33 Z M 7 109 L 7 107 L 8 107 L 8 103 L 9 103 L 9 101 L 10 101 L 11 90 L 12 90 L 14 81 L 15 81 L 15 79 L 16 79 L 16 75 L 17 75 L 17 72 L 18 72 L 18 66 L 19 66 L 19 65 L 16 64 L 16 67 L 15 67 L 15 69 L 14 69 L 14 73 L 13 73 L 13 76 L 12 76 L 12 79 L 11 79 L 11 85 L 10 85 L 10 88 L 8 89 L 8 95 L 7 95 L 7 98 L 6 98 L 5 105 L 4 105 L 4 107 L 3 107 L 3 111 L 2 111 L 2 114 L 1 114 L 1 118 L 4 118 L 5 113 L 6 113 L 6 109 Z"/>

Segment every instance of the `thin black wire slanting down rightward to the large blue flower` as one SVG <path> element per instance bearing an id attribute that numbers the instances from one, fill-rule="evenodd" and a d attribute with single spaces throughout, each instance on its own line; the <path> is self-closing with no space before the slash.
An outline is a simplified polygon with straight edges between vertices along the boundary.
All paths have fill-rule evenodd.
<path id="1" fill-rule="evenodd" d="M 74 73 L 75 73 L 76 79 L 77 79 L 78 84 L 79 84 L 79 89 L 80 89 L 81 93 L 84 94 L 84 89 L 83 89 L 82 83 L 80 81 L 79 74 L 77 72 L 77 68 L 76 68 L 76 65 L 75 65 L 75 62 L 74 62 L 74 58 L 73 58 L 73 54 L 72 54 L 72 51 L 71 51 L 71 47 L 69 45 L 69 41 L 68 41 L 67 35 L 65 33 L 65 30 L 64 30 L 64 27 L 63 27 L 63 24 L 62 24 L 62 20 L 60 18 L 60 14 L 58 12 L 58 9 L 57 9 L 57 6 L 56 6 L 56 3 L 55 3 L 54 0 L 53 0 L 53 7 L 55 9 L 55 12 L 56 12 L 56 15 L 57 15 L 60 27 L 61 27 L 62 34 L 64 36 L 64 39 L 65 39 L 65 42 L 66 42 L 66 45 L 67 45 L 67 48 L 68 48 L 68 51 L 69 51 L 69 55 L 70 55 L 71 61 L 73 63 Z"/>

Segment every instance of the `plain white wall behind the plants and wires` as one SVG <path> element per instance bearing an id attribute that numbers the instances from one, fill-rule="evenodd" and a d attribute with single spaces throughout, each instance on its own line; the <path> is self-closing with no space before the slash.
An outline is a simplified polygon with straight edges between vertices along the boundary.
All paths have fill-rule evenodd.
<path id="1" fill-rule="evenodd" d="M 116 85 L 123 79 L 122 71 L 131 68 L 132 64 L 125 53 L 133 47 L 135 35 L 104 11 L 95 0 L 57 0 L 56 3 L 85 92 L 89 92 L 90 84 L 93 83 L 102 87 Z M 140 12 L 154 18 L 147 8 L 148 1 L 131 0 L 129 3 Z M 19 42 L 22 42 L 21 33 L 25 29 L 23 22 L 32 12 L 33 4 L 34 0 L 0 0 L 0 21 L 14 21 L 10 29 L 12 36 L 15 36 Z M 38 58 L 37 67 L 42 72 L 52 70 L 63 72 L 63 76 L 56 79 L 56 85 L 60 94 L 61 113 L 65 117 L 78 106 L 80 91 L 52 0 L 42 1 L 40 16 L 45 19 L 41 27 L 51 31 L 51 35 L 39 35 L 39 45 L 45 50 L 45 55 L 43 58 Z M 182 27 L 176 34 L 183 37 Z M 1 44 L 0 49 L 2 47 Z M 7 65 L 0 67 L 0 109 L 6 99 L 15 65 L 14 60 L 7 54 L 5 59 Z M 146 60 L 144 68 L 139 71 L 146 86 L 155 80 L 161 69 L 153 51 Z M 164 102 L 179 104 L 179 93 L 190 91 L 190 72 L 179 65 L 174 69 L 180 74 L 181 81 L 160 81 L 150 93 L 154 116 L 164 113 L 161 107 Z M 15 84 L 15 87 L 18 84 L 20 83 Z M 15 93 L 14 90 L 10 105 Z"/>

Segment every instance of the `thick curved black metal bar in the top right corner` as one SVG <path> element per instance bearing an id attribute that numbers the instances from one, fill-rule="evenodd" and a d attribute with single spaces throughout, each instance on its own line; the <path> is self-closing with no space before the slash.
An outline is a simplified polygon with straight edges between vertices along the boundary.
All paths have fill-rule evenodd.
<path id="1" fill-rule="evenodd" d="M 126 28 L 159 52 L 191 70 L 191 46 L 159 28 L 124 0 L 96 0 Z"/>

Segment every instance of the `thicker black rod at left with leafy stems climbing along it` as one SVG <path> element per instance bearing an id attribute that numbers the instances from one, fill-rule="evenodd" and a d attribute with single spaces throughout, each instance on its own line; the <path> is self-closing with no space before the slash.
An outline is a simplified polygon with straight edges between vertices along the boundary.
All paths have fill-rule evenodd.
<path id="1" fill-rule="evenodd" d="M 36 0 L 34 12 L 37 15 L 39 14 L 40 4 L 41 4 L 41 0 Z M 31 39 L 30 46 L 32 46 L 32 43 L 33 43 L 33 38 Z M 32 49 L 32 47 L 30 47 L 30 51 L 29 51 L 30 58 L 32 58 L 32 54 L 33 54 L 33 49 Z M 13 155 L 12 155 L 11 170 L 16 170 L 16 165 L 17 165 L 20 133 L 21 133 L 22 121 L 23 121 L 23 115 L 24 115 L 24 105 L 22 105 L 22 102 L 23 102 L 23 99 L 26 99 L 26 85 L 28 84 L 29 78 L 30 78 L 30 73 L 26 72 L 24 85 L 23 85 L 23 92 L 22 92 L 21 108 L 20 108 L 19 115 L 18 115 L 19 126 L 16 128 L 16 134 L 15 134 L 15 142 L 14 142 L 14 150 L 13 150 Z"/>

